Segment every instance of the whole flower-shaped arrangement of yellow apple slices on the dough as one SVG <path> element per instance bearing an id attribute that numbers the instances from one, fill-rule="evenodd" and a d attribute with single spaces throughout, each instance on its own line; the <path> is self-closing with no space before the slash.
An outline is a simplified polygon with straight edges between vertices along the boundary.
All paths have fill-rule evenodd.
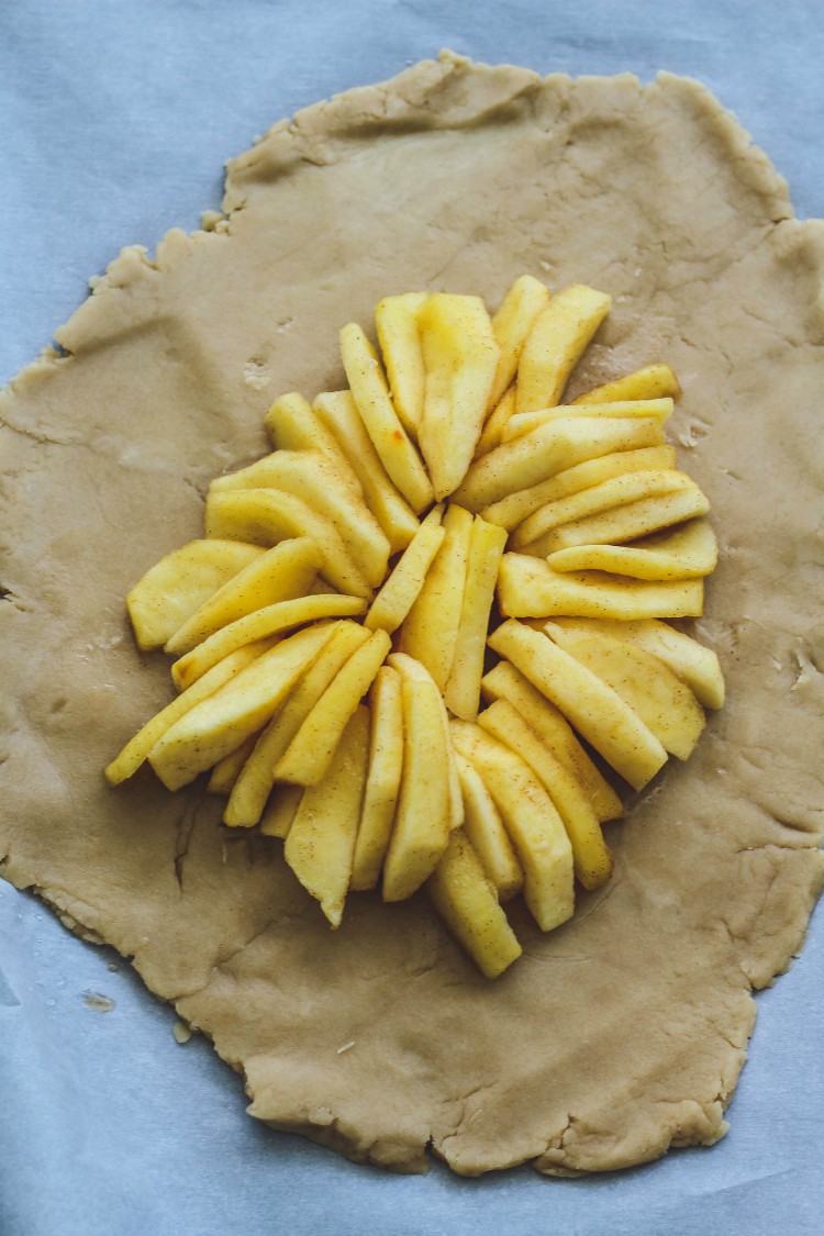
<path id="1" fill-rule="evenodd" d="M 348 389 L 275 400 L 274 451 L 216 478 L 205 538 L 126 598 L 178 695 L 106 769 L 210 771 L 224 822 L 283 838 L 332 927 L 350 891 L 423 886 L 489 978 L 603 885 L 612 770 L 641 790 L 719 708 L 703 612 L 717 543 L 650 365 L 562 404 L 610 307 L 573 284 L 409 293 L 379 352 L 341 331 Z M 490 632 L 490 627 L 493 628 Z M 483 700 L 483 706 L 482 706 Z"/>

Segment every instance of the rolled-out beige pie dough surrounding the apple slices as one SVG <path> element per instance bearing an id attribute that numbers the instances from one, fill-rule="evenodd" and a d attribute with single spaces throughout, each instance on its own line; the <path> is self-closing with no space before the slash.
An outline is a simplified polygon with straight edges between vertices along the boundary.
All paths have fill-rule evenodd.
<path id="1" fill-rule="evenodd" d="M 127 248 L 4 393 L 0 870 L 105 939 L 242 1069 L 251 1112 L 401 1170 L 626 1167 L 710 1143 L 752 988 L 824 881 L 824 224 L 697 83 L 540 79 L 450 53 L 283 121 L 227 219 Z M 488 983 L 425 895 L 331 932 L 280 843 L 103 768 L 168 698 L 124 596 L 267 449 L 283 391 L 342 384 L 337 330 L 410 288 L 613 293 L 571 394 L 666 360 L 721 561 L 698 634 L 729 702 L 608 826 L 616 871 Z M 672 764 L 672 761 L 671 761 Z M 346 1049 L 343 1049 L 346 1048 Z M 767 1131 L 765 1130 L 765 1136 Z"/>

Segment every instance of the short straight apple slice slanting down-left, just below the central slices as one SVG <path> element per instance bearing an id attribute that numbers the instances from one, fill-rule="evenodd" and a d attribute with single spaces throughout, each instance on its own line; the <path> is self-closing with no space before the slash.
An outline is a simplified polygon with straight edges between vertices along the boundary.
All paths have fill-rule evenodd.
<path id="1" fill-rule="evenodd" d="M 326 776 L 343 728 L 390 648 L 385 630 L 376 630 L 352 653 L 278 760 L 277 781 L 317 785 Z"/>

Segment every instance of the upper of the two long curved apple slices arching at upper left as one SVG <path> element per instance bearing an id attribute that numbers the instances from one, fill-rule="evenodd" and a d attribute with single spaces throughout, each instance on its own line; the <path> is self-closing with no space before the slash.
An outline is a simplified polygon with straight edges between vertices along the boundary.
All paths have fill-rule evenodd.
<path id="1" fill-rule="evenodd" d="M 210 492 L 279 489 L 294 494 L 331 520 L 364 578 L 378 587 L 387 574 L 389 541 L 347 472 L 350 480 L 322 451 L 280 450 L 240 472 L 217 477 Z"/>

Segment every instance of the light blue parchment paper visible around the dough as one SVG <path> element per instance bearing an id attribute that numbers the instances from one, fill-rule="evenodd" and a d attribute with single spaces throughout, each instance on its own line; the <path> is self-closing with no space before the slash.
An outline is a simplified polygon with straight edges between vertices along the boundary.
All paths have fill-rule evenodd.
<path id="1" fill-rule="evenodd" d="M 0 0 L 0 381 L 121 245 L 217 206 L 222 162 L 274 120 L 445 46 L 540 72 L 698 77 L 798 214 L 824 214 L 818 0 Z M 174 1015 L 115 960 L 0 884 L 0 1236 L 824 1231 L 820 912 L 757 997 L 729 1136 L 573 1182 L 389 1177 L 262 1128 L 240 1079 L 205 1042 L 178 1046 Z"/>

